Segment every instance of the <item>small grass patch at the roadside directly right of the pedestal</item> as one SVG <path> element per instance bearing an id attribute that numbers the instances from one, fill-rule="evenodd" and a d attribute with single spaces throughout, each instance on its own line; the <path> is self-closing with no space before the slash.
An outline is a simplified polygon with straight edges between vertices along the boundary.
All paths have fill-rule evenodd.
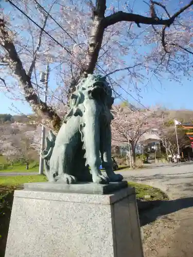
<path id="1" fill-rule="evenodd" d="M 128 185 L 135 188 L 137 199 L 145 199 L 145 195 L 150 195 L 151 197 L 146 200 L 168 200 L 167 194 L 165 194 L 159 188 L 154 188 L 135 182 L 128 182 Z"/>

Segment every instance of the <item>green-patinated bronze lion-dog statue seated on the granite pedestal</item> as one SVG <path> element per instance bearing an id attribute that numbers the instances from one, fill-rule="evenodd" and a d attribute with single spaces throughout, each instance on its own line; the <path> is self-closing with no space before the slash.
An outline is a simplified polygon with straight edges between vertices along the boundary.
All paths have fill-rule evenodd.
<path id="1" fill-rule="evenodd" d="M 42 157 L 50 182 L 109 183 L 123 179 L 112 168 L 110 109 L 113 102 L 105 77 L 89 75 L 76 86 L 58 135 L 50 131 L 46 138 Z M 101 174 L 101 161 L 108 177 Z"/>

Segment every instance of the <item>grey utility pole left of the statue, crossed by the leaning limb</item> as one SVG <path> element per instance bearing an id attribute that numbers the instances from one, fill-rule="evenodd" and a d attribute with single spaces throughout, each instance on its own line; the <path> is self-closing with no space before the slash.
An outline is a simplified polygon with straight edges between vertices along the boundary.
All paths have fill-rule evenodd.
<path id="1" fill-rule="evenodd" d="M 47 102 L 47 89 L 48 89 L 48 78 L 49 78 L 49 63 L 46 66 L 46 72 L 41 72 L 40 82 L 45 84 L 44 88 L 44 103 Z M 42 152 L 45 147 L 45 126 L 42 125 L 42 136 L 41 136 L 41 149 L 40 149 L 40 165 L 39 165 L 39 174 L 44 174 L 44 159 L 42 158 Z"/>

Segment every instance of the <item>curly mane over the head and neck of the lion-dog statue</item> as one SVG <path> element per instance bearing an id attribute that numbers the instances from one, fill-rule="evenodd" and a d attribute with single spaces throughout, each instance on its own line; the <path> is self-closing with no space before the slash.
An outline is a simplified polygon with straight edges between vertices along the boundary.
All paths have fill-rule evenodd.
<path id="1" fill-rule="evenodd" d="M 67 120 L 72 116 L 82 116 L 82 110 L 79 108 L 79 105 L 84 102 L 85 98 L 89 97 L 89 91 L 92 91 L 92 89 L 96 87 L 96 83 L 101 83 L 102 88 L 106 94 L 112 96 L 112 90 L 106 80 L 106 77 L 89 74 L 87 78 L 81 79 L 80 82 L 76 85 L 76 90 L 72 94 L 71 100 L 69 101 L 70 109 L 64 116 L 64 123 L 66 123 Z"/>

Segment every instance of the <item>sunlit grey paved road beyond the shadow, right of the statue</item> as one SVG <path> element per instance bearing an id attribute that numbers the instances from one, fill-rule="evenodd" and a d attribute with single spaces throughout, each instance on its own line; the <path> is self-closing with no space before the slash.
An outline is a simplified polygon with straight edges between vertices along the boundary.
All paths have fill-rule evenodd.
<path id="1" fill-rule="evenodd" d="M 129 180 L 160 188 L 172 199 L 193 196 L 193 163 L 154 169 L 119 170 L 117 173 Z"/>

